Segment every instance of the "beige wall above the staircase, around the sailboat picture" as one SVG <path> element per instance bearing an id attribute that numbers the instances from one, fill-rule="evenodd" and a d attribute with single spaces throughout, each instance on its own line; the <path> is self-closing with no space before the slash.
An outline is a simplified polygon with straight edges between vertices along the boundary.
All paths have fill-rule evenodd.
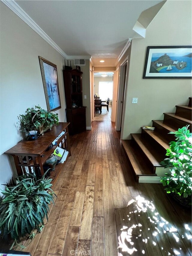
<path id="1" fill-rule="evenodd" d="M 168 22 L 170 17 L 176 18 Z M 164 112 L 175 112 L 176 104 L 188 104 L 190 79 L 142 77 L 147 46 L 191 45 L 191 20 L 191 1 L 167 1 L 147 28 L 146 38 L 132 40 L 123 139 L 152 125 L 152 119 L 163 119 Z M 131 104 L 132 97 L 138 98 L 137 104 Z"/>

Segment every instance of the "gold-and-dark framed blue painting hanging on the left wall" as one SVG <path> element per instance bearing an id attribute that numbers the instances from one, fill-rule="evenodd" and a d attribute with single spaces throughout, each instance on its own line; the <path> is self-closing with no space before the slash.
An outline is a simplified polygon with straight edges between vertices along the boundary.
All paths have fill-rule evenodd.
<path id="1" fill-rule="evenodd" d="M 39 56 L 41 76 L 43 80 L 47 110 L 54 111 L 61 108 L 59 95 L 57 66 Z"/>

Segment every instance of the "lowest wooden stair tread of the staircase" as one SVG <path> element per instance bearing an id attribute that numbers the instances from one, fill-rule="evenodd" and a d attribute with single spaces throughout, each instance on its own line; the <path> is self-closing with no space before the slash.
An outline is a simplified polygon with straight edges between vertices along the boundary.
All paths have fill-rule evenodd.
<path id="1" fill-rule="evenodd" d="M 150 175 L 157 176 L 157 174 L 152 173 L 150 168 L 145 164 L 142 158 L 139 155 L 137 148 L 135 148 L 131 140 L 121 140 L 122 146 L 125 149 L 125 152 L 131 162 L 131 165 L 134 169 L 136 176 L 139 175 Z"/>

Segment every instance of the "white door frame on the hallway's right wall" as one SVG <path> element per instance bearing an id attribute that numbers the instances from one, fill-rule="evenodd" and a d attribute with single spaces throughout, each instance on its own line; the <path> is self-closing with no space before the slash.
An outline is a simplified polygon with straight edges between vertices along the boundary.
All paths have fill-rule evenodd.
<path id="1" fill-rule="evenodd" d="M 117 96 L 117 110 L 116 110 L 116 131 L 120 131 L 121 127 L 123 130 L 123 124 L 125 119 L 125 100 L 126 100 L 126 87 L 128 83 L 128 57 L 127 56 L 124 61 L 120 65 L 119 69 L 119 83 L 118 83 L 118 96 Z M 127 65 L 126 76 L 125 76 L 125 66 Z M 125 93 L 124 99 L 123 97 L 123 89 L 124 89 L 124 77 L 125 77 Z M 122 104 L 123 103 L 123 104 Z M 123 115 L 122 115 L 123 112 Z M 122 116 L 122 123 L 121 123 L 121 116 Z"/>

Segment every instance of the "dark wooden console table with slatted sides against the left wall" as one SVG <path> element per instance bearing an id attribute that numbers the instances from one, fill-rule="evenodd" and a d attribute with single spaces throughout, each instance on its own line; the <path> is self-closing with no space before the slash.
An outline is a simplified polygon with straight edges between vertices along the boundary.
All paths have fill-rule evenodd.
<path id="1" fill-rule="evenodd" d="M 30 173 L 35 171 L 35 173 L 41 177 L 44 174 L 43 165 L 45 161 L 57 146 L 65 148 L 69 152 L 67 158 L 71 156 L 68 133 L 69 124 L 70 123 L 59 123 L 57 126 L 54 125 L 51 131 L 46 131 L 44 135 L 37 140 L 22 140 L 14 147 L 4 152 L 5 154 L 13 156 L 17 174 L 22 175 L 26 173 L 27 169 Z M 47 150 L 62 131 L 65 131 L 65 134 L 58 138 L 57 145 L 53 145 L 51 149 Z"/>

